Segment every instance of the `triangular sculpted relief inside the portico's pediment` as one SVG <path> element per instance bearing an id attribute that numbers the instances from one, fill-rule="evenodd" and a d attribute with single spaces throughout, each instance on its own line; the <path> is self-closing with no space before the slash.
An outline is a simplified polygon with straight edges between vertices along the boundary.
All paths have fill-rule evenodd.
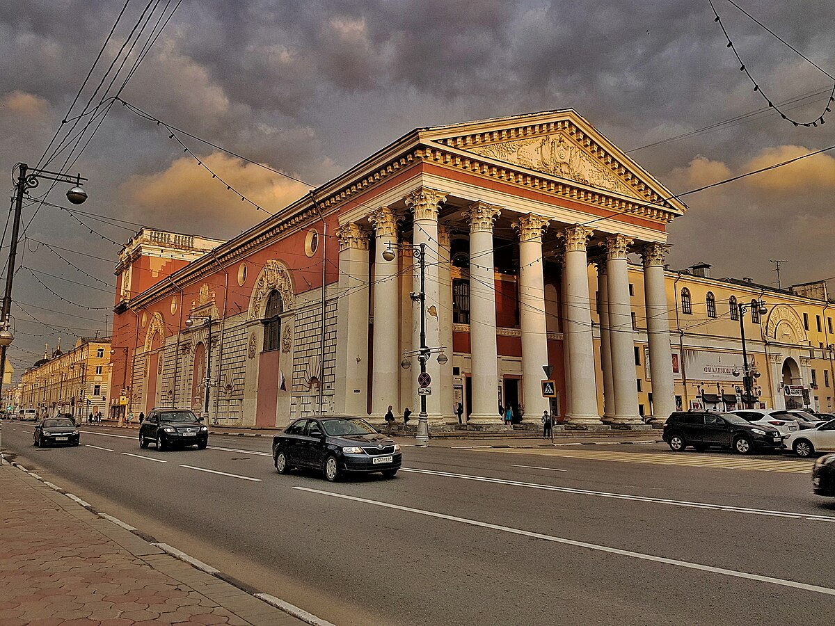
<path id="1" fill-rule="evenodd" d="M 501 161 L 519 164 L 545 174 L 635 196 L 635 190 L 620 180 L 563 134 L 505 141 L 471 148 L 473 152 Z"/>

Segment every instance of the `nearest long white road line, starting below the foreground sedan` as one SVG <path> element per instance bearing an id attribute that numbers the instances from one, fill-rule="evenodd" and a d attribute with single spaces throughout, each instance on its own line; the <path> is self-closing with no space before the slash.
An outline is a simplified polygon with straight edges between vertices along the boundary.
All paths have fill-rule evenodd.
<path id="1" fill-rule="evenodd" d="M 568 539 L 564 537 L 556 537 L 554 535 L 545 535 L 543 533 L 532 533 L 528 530 L 522 530 L 521 528 L 513 528 L 510 526 L 499 526 L 498 524 L 491 524 L 488 522 L 481 522 L 476 519 L 468 519 L 467 517 L 456 517 L 454 515 L 446 515 L 445 513 L 438 513 L 434 511 L 427 511 L 420 508 L 412 508 L 412 507 L 402 507 L 399 504 L 391 504 L 390 502 L 380 502 L 378 500 L 368 500 L 364 497 L 355 497 L 355 496 L 347 496 L 342 493 L 334 493 L 334 492 L 326 492 L 321 491 L 320 489 L 311 489 L 310 487 L 293 487 L 293 489 L 297 489 L 303 492 L 309 493 L 316 493 L 321 496 L 328 496 L 328 497 L 337 497 L 342 500 L 350 500 L 352 502 L 361 502 L 362 504 L 372 504 L 375 507 L 384 507 L 384 508 L 391 508 L 397 511 L 403 512 L 410 512 L 415 513 L 417 515 L 423 515 L 425 517 L 436 517 L 437 519 L 444 519 L 449 522 L 458 522 L 463 524 L 468 524 L 469 526 L 477 526 L 479 528 L 488 528 L 490 530 L 498 530 L 503 533 L 511 533 L 514 535 L 520 535 L 522 537 L 530 537 L 535 539 L 543 539 L 544 541 L 554 542 L 554 543 L 562 543 L 567 546 L 573 546 L 574 548 L 585 548 L 588 550 L 594 550 L 595 552 L 602 552 L 602 553 L 609 553 L 609 554 L 617 554 L 621 557 L 629 557 L 629 558 L 638 558 L 642 561 L 652 561 L 654 563 L 664 563 L 665 565 L 673 565 L 679 568 L 686 568 L 686 569 L 696 569 L 700 570 L 701 572 L 709 572 L 709 573 L 717 573 L 721 574 L 722 576 L 730 576 L 732 578 L 744 578 L 746 580 L 756 581 L 757 583 L 769 583 L 773 585 L 779 585 L 781 587 L 790 587 L 795 589 L 802 589 L 804 591 L 811 591 L 812 593 L 822 593 L 828 596 L 835 596 L 835 589 L 822 587 L 820 585 L 813 585 L 809 583 L 798 583 L 794 580 L 787 580 L 785 578 L 773 578 L 771 576 L 762 576 L 761 574 L 756 573 L 749 573 L 749 572 L 741 572 L 735 569 L 726 569 L 726 568 L 715 568 L 711 565 L 704 565 L 702 563 L 691 563 L 690 561 L 681 561 L 677 558 L 666 558 L 666 557 L 659 557 L 655 556 L 655 554 L 645 554 L 640 552 L 633 552 L 631 550 L 622 550 L 620 548 L 610 548 L 609 546 L 604 546 L 599 543 L 586 543 L 582 541 L 576 541 L 574 539 Z"/>

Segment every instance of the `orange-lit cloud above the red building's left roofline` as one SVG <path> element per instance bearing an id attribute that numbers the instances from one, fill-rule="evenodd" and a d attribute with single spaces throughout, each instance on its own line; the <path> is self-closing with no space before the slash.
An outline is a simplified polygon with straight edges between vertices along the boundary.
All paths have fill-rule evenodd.
<path id="1" fill-rule="evenodd" d="M 133 204 L 149 226 L 159 220 L 171 227 L 202 235 L 235 235 L 267 217 L 239 194 L 270 214 L 306 194 L 305 184 L 274 174 L 256 164 L 226 154 L 201 157 L 206 168 L 191 157 L 175 160 L 163 172 L 132 176 L 122 184 L 120 194 Z M 223 179 L 225 183 L 221 183 Z M 195 225 L 200 225 L 195 229 Z"/>

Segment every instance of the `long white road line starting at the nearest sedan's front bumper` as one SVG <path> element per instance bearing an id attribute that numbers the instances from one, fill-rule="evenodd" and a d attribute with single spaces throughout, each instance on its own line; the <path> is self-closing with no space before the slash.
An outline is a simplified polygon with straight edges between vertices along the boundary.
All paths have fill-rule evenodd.
<path id="1" fill-rule="evenodd" d="M 476 482 L 493 482 L 498 485 L 509 485 L 510 487 L 528 487 L 529 489 L 540 489 L 543 491 L 571 493 L 579 496 L 605 497 L 613 500 L 630 500 L 633 502 L 650 502 L 653 504 L 667 504 L 673 507 L 704 508 L 709 511 L 736 512 L 750 515 L 764 515 L 768 517 L 792 517 L 794 519 L 805 519 L 813 522 L 835 522 L 832 515 L 813 515 L 811 513 L 772 511 L 765 508 L 732 507 L 724 504 L 713 504 L 711 502 L 688 502 L 686 500 L 670 500 L 664 497 L 635 496 L 630 493 L 617 492 L 596 492 L 589 489 L 576 489 L 574 487 L 556 487 L 554 485 L 541 485 L 536 482 L 511 481 L 504 478 L 490 478 L 484 476 L 473 476 L 472 474 L 453 474 L 451 472 L 438 472 L 436 470 L 421 470 L 403 467 L 401 472 L 414 472 L 417 474 L 428 474 L 448 478 L 460 478 Z"/>

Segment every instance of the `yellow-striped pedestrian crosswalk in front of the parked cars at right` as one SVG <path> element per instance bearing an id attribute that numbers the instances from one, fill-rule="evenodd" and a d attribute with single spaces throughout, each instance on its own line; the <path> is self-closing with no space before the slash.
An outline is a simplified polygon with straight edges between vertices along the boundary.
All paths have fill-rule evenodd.
<path id="1" fill-rule="evenodd" d="M 716 458 L 703 455 L 690 455 L 658 452 L 655 454 L 636 454 L 634 452 L 614 452 L 609 450 L 578 450 L 571 448 L 530 449 L 530 448 L 487 448 L 477 452 L 499 454 L 533 454 L 540 457 L 562 457 L 590 459 L 593 461 L 616 461 L 625 463 L 646 463 L 649 465 L 674 465 L 681 467 L 704 467 L 706 469 L 734 469 L 752 472 L 812 472 L 812 461 L 778 461 L 771 459 L 747 459 L 742 457 Z"/>

